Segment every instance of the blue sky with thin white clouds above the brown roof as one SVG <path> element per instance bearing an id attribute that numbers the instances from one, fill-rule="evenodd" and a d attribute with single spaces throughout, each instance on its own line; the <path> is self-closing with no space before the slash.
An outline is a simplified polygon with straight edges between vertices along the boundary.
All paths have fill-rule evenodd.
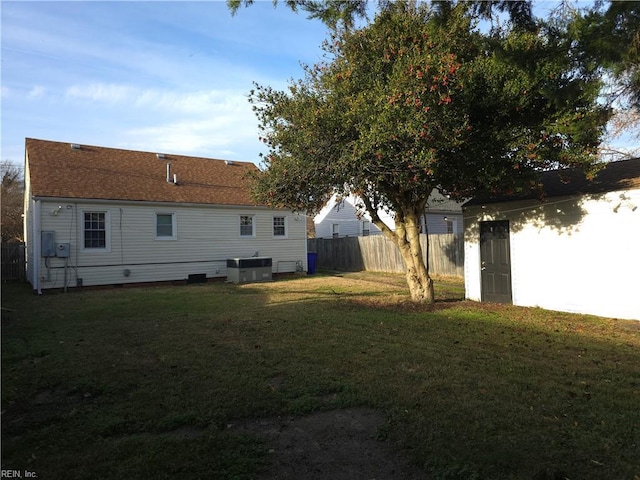
<path id="1" fill-rule="evenodd" d="M 281 2 L 282 3 L 282 2 Z M 6 1 L 1 160 L 25 138 L 260 162 L 253 82 L 284 89 L 325 26 L 257 1 Z"/>

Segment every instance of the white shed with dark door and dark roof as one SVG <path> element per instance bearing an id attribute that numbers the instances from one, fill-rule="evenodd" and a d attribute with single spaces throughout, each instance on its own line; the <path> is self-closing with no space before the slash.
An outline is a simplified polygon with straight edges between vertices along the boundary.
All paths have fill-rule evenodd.
<path id="1" fill-rule="evenodd" d="M 640 320 L 640 159 L 542 183 L 464 205 L 466 297 Z"/>

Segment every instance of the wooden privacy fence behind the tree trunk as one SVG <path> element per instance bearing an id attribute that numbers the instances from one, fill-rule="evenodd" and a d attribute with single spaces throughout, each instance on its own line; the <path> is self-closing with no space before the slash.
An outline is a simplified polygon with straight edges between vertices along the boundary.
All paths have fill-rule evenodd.
<path id="1" fill-rule="evenodd" d="M 420 235 L 422 251 L 427 251 L 427 236 Z M 310 238 L 310 252 L 316 252 L 317 268 L 328 270 L 404 272 L 397 247 L 384 235 L 345 238 Z M 429 235 L 429 273 L 464 277 L 462 234 Z"/>

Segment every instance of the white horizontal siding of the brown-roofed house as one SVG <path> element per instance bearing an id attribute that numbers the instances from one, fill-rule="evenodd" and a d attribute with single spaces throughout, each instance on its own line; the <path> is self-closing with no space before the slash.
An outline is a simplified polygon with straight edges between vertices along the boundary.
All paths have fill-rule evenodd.
<path id="1" fill-rule="evenodd" d="M 53 214 L 58 206 L 62 208 Z M 191 206 L 148 203 L 42 201 L 40 228 L 54 231 L 56 243 L 70 243 L 66 286 L 185 280 L 190 274 L 226 277 L 226 260 L 256 255 L 273 259 L 274 273 L 307 269 L 306 222 L 289 211 L 252 207 Z M 83 248 L 83 213 L 105 212 L 107 251 Z M 156 214 L 174 215 L 175 240 L 156 239 Z M 240 215 L 251 215 L 252 237 L 240 236 Z M 273 217 L 287 218 L 283 238 L 273 236 Z M 32 234 L 38 240 L 39 233 Z M 30 249 L 30 252 L 33 249 Z M 65 286 L 65 260 L 39 262 L 41 288 Z M 125 275 L 125 271 L 127 275 Z M 33 281 L 32 281 L 33 283 Z"/>

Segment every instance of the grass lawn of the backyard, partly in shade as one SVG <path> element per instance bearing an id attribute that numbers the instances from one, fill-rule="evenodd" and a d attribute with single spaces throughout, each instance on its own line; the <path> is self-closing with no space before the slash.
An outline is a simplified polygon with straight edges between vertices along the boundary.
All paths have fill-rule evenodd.
<path id="1" fill-rule="evenodd" d="M 402 276 L 364 272 L 3 285 L 2 468 L 250 479 L 268 451 L 228 424 L 364 406 L 425 478 L 640 479 L 640 322 L 436 295 L 416 307 Z"/>

